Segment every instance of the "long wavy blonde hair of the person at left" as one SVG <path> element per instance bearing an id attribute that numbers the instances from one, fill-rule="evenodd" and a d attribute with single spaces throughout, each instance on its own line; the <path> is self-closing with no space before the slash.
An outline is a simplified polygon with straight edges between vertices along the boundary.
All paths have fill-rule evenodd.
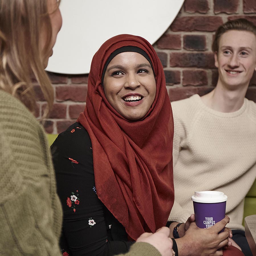
<path id="1" fill-rule="evenodd" d="M 40 31 L 45 26 L 46 44 L 40 50 Z M 11 93 L 31 111 L 36 108 L 32 80 L 36 79 L 48 103 L 54 100 L 42 56 L 48 51 L 52 26 L 47 0 L 0 1 L 0 89 Z"/>

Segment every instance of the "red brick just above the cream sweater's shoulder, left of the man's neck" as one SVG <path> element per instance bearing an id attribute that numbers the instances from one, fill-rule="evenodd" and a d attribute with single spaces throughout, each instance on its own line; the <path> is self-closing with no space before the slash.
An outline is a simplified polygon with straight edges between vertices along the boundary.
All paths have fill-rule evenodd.
<path id="1" fill-rule="evenodd" d="M 170 101 L 178 101 L 182 99 L 189 98 L 194 94 L 199 94 L 200 96 L 209 93 L 214 87 L 201 86 L 201 87 L 175 87 L 169 89 Z"/>

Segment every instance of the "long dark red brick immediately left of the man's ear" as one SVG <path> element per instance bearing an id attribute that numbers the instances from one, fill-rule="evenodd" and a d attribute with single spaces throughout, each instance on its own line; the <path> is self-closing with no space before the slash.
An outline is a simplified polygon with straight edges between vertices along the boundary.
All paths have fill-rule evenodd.
<path id="1" fill-rule="evenodd" d="M 173 52 L 170 54 L 170 66 L 214 68 L 214 54 Z"/>

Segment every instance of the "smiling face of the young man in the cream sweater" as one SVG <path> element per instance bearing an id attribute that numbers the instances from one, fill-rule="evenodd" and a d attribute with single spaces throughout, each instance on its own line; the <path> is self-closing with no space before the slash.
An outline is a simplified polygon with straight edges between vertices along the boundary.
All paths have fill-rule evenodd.
<path id="1" fill-rule="evenodd" d="M 218 84 L 230 89 L 248 87 L 256 70 L 255 35 L 240 30 L 225 32 L 215 53 L 215 66 L 219 71 Z"/>

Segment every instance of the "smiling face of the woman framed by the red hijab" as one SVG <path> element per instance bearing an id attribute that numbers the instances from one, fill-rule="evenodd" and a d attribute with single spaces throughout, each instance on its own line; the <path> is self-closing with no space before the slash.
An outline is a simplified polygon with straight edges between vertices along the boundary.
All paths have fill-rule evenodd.
<path id="1" fill-rule="evenodd" d="M 155 99 L 153 70 L 137 52 L 122 52 L 110 61 L 103 87 L 111 106 L 128 120 L 143 118 Z"/>

